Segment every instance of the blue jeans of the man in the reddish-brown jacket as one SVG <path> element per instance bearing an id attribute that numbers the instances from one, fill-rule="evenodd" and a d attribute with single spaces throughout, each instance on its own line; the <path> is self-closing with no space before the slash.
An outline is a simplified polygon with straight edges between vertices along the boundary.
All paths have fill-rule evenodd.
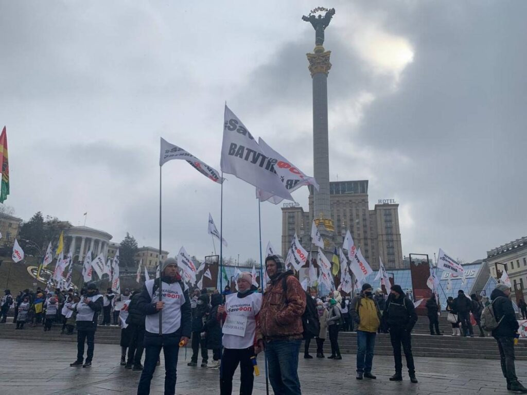
<path id="1" fill-rule="evenodd" d="M 280 395 L 301 395 L 298 379 L 298 353 L 301 340 L 266 342 L 267 366 L 272 390 Z"/>

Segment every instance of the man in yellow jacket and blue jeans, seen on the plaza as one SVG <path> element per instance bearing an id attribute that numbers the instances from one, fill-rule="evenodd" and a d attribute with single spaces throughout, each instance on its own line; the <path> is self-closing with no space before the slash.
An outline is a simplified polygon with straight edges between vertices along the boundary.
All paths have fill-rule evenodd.
<path id="1" fill-rule="evenodd" d="M 375 338 L 380 325 L 380 310 L 373 299 L 373 289 L 370 284 L 362 286 L 362 292 L 350 303 L 350 312 L 357 327 L 357 380 L 363 377 L 376 379 L 372 374 L 373 352 Z"/>

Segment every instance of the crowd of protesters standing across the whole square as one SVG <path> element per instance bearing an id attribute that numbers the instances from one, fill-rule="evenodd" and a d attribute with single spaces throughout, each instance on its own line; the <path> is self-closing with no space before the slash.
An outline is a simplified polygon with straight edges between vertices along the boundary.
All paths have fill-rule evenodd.
<path id="1" fill-rule="evenodd" d="M 388 295 L 380 289 L 374 293 L 373 287 L 366 283 L 353 299 L 343 298 L 339 291 L 319 298 L 316 289 L 302 289 L 281 256 L 268 256 L 265 268 L 270 281 L 263 293 L 253 285 L 251 273 L 242 272 L 237 276 L 237 292 L 230 292 L 226 287 L 221 294 L 198 289 L 189 294 L 173 258 L 162 263 L 161 281 L 149 280 L 141 291 L 127 289 L 123 294 L 114 294 L 108 289 L 102 295 L 91 283 L 78 293 L 73 289 L 47 293 L 37 289 L 35 293 L 22 291 L 13 298 L 6 290 L 0 322 L 6 321 L 7 311 L 14 306 L 16 329 L 23 329 L 28 322 L 33 326 L 43 325 L 44 331 L 50 331 L 57 322 L 62 324 L 61 333 L 67 335 L 76 327 L 77 357 L 70 366 L 89 368 L 94 357 L 97 325 L 110 325 L 113 315 L 113 323 L 121 326 L 120 363 L 126 369 L 141 371 L 139 395 L 150 393 L 161 351 L 164 353 L 164 393 L 175 393 L 179 349 L 188 342 L 192 348 L 188 366 L 197 367 L 201 354 L 202 368 L 219 369 L 222 395 L 232 393 L 238 366 L 240 394 L 252 393 L 257 356 L 262 350 L 265 350 L 268 380 L 274 392 L 298 395 L 301 393 L 297 371 L 302 340 L 305 359 L 313 359 L 309 352 L 312 339 L 316 340 L 316 357 L 325 358 L 324 342 L 329 338 L 331 354 L 327 358 L 340 360 L 340 331 L 357 332 L 357 380 L 376 379 L 375 341 L 377 333 L 383 332 L 389 333 L 393 347 L 395 374 L 389 380 L 403 380 L 402 348 L 408 377 L 412 383 L 418 382 L 411 335 L 417 314 L 413 301 L 399 285 L 393 285 Z M 457 298 L 448 299 L 446 310 L 454 317 L 452 320 L 449 317 L 452 335 L 473 337 L 471 317 L 481 336 L 484 336 L 483 327 L 492 329 L 507 388 L 527 392 L 515 374 L 514 342 L 519 325 L 509 295 L 510 289 L 504 284 L 497 285 L 489 301 L 482 301 L 476 295 L 468 298 L 460 290 Z M 431 334 L 441 335 L 437 319 L 440 305 L 435 296 L 426 301 L 426 309 Z M 141 364 L 143 351 L 144 364 Z"/>

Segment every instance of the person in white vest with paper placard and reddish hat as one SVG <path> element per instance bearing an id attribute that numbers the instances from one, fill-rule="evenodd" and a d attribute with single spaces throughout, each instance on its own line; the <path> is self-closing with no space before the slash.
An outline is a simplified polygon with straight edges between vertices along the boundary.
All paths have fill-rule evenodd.
<path id="1" fill-rule="evenodd" d="M 240 394 L 251 395 L 254 381 L 252 357 L 260 349 L 257 345 L 258 313 L 262 305 L 262 295 L 252 285 L 249 272 L 238 274 L 238 292 L 225 297 L 225 305 L 218 308 L 223 314 L 223 356 L 220 369 L 220 394 L 231 395 L 232 376 L 240 364 Z M 261 335 L 259 336 L 261 338 Z"/>

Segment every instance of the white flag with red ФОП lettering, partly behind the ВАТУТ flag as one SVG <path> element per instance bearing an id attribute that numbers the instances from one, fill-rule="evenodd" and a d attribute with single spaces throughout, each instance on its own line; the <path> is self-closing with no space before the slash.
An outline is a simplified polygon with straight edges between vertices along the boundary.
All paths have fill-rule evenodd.
<path id="1" fill-rule="evenodd" d="M 258 139 L 258 145 L 267 157 L 276 160 L 274 166 L 276 174 L 289 193 L 296 191 L 299 187 L 304 185 L 313 185 L 318 191 L 318 183 L 313 177 L 300 171 L 298 167 L 288 161 L 284 156 L 273 150 L 261 137 Z M 284 200 L 282 197 L 263 191 L 258 187 L 256 189 L 256 197 L 258 197 L 261 202 L 269 201 L 273 204 L 278 204 Z"/>

